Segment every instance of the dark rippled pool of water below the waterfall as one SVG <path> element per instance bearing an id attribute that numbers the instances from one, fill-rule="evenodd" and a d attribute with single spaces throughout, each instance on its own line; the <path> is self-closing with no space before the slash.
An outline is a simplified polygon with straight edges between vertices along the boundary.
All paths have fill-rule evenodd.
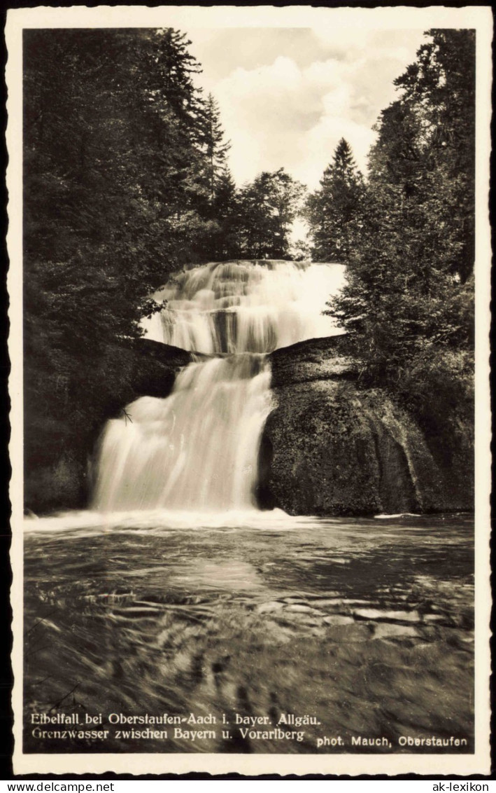
<path id="1" fill-rule="evenodd" d="M 324 736 L 342 743 L 319 752 L 411 752 L 407 736 L 467 741 L 415 751 L 473 751 L 472 540 L 462 515 L 29 521 L 25 751 L 312 753 Z M 109 734 L 33 736 L 40 713 L 102 714 Z M 111 713 L 196 726 L 123 738 Z M 287 714 L 317 723 L 274 740 L 281 714 L 285 731 Z M 247 717 L 258 735 L 235 726 Z"/>

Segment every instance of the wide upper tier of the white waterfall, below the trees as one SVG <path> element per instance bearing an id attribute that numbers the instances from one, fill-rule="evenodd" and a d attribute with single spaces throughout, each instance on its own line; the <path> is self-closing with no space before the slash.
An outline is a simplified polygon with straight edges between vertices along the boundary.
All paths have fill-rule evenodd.
<path id="1" fill-rule="evenodd" d="M 185 270 L 154 294 L 149 339 L 206 354 L 265 353 L 341 329 L 322 311 L 344 283 L 340 264 L 263 259 Z"/>

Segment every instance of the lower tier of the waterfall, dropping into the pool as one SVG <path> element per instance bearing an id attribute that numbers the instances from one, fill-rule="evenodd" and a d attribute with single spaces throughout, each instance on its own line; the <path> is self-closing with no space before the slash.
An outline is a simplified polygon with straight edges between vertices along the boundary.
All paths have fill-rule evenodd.
<path id="1" fill-rule="evenodd" d="M 255 507 L 261 431 L 271 406 L 265 356 L 189 364 L 170 397 L 141 397 L 107 423 L 93 508 Z"/>

